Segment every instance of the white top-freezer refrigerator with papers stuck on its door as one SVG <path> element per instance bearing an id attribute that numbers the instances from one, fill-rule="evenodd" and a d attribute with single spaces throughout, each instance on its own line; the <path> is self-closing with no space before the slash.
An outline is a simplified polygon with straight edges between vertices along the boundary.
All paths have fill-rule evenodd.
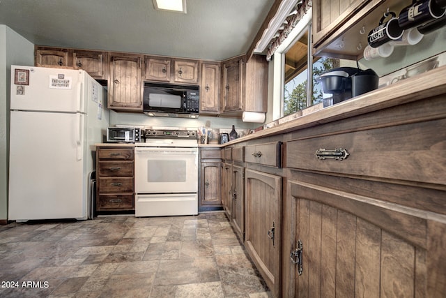
<path id="1" fill-rule="evenodd" d="M 107 92 L 84 70 L 11 66 L 8 219 L 90 218 Z"/>

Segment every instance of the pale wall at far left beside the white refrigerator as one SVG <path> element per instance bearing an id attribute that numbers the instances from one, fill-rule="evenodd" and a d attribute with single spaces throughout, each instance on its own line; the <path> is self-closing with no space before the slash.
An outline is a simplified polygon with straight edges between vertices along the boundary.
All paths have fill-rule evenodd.
<path id="1" fill-rule="evenodd" d="M 11 65 L 34 65 L 34 45 L 0 24 L 0 221 L 8 218 L 8 142 Z"/>

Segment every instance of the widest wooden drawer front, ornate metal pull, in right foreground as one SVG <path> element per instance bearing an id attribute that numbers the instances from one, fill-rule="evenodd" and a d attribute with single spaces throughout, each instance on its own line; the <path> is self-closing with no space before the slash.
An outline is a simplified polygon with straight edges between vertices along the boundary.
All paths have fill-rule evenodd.
<path id="1" fill-rule="evenodd" d="M 446 119 L 294 140 L 287 143 L 288 167 L 444 184 Z M 346 149 L 343 160 L 318 149 Z M 340 155 L 340 153 L 338 153 Z M 324 159 L 325 158 L 325 159 Z"/>

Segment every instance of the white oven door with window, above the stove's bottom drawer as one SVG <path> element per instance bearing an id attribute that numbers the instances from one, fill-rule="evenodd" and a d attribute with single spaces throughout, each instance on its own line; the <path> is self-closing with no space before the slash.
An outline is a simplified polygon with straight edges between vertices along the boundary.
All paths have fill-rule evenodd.
<path id="1" fill-rule="evenodd" d="M 197 147 L 136 147 L 134 150 L 135 193 L 197 193 Z"/>

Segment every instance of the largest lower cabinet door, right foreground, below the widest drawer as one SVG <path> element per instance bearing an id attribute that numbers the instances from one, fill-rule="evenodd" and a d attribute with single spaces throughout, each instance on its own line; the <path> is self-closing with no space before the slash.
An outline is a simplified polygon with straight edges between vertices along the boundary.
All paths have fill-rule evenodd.
<path id="1" fill-rule="evenodd" d="M 445 216 L 300 181 L 287 193 L 298 264 L 284 260 L 285 297 L 440 297 L 445 283 L 429 281 L 445 274 L 444 237 L 433 244 Z"/>

